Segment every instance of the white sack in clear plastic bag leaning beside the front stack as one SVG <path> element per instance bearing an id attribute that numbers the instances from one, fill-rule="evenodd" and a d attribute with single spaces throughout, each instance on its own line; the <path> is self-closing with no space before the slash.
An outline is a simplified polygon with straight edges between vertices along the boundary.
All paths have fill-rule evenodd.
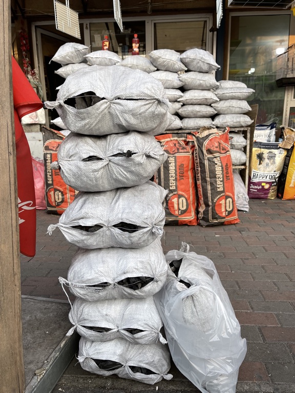
<path id="1" fill-rule="evenodd" d="M 235 393 L 246 340 L 213 262 L 182 250 L 166 254 L 167 280 L 154 295 L 173 361 L 202 393 Z"/>

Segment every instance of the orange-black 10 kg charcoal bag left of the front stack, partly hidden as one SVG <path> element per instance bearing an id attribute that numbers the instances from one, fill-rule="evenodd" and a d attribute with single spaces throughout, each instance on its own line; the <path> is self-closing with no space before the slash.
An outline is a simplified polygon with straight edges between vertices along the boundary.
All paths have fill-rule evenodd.
<path id="1" fill-rule="evenodd" d="M 51 163 L 57 160 L 57 151 L 65 136 L 46 126 L 42 126 L 42 132 L 44 143 L 46 212 L 62 214 L 74 201 L 77 193 L 74 188 L 67 186 L 64 180 L 62 180 L 59 170 L 51 168 Z"/>

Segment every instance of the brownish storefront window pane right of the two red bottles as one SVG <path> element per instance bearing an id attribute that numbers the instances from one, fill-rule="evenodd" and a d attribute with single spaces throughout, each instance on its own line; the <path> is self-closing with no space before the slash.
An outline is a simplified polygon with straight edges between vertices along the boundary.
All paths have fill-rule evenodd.
<path id="1" fill-rule="evenodd" d="M 173 49 L 183 53 L 191 48 L 206 50 L 205 20 L 159 22 L 154 24 L 155 49 Z"/>

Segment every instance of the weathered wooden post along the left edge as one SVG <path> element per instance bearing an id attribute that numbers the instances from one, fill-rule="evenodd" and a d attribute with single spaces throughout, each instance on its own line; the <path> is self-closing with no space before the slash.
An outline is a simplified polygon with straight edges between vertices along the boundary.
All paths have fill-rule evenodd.
<path id="1" fill-rule="evenodd" d="M 24 393 L 10 0 L 0 6 L 0 390 Z"/>

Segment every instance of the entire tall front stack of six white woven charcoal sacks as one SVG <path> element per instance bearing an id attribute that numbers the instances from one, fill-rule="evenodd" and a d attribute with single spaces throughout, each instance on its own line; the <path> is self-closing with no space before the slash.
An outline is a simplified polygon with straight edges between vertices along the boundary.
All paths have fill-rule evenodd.
<path id="1" fill-rule="evenodd" d="M 167 157 L 153 137 L 171 123 L 164 89 L 142 71 L 93 65 L 67 77 L 46 106 L 71 131 L 52 167 L 79 191 L 48 228 L 78 246 L 60 277 L 76 296 L 68 334 L 81 335 L 78 360 L 102 376 L 171 379 L 153 300 L 167 275 L 166 191 L 149 180 Z"/>

